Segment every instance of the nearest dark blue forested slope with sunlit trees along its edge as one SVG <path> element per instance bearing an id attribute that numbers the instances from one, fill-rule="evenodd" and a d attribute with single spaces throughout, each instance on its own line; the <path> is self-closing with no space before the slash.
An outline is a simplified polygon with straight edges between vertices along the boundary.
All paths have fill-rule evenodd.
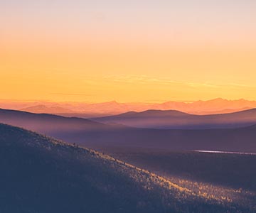
<path id="1" fill-rule="evenodd" d="M 0 124 L 0 212 L 253 212 L 119 160 Z"/>

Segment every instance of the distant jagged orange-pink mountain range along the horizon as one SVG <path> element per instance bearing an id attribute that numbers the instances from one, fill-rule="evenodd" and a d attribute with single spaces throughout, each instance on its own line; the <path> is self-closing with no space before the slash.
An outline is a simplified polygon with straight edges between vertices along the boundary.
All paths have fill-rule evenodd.
<path id="1" fill-rule="evenodd" d="M 43 109 L 43 106 L 45 109 Z M 1 101 L 0 107 L 4 109 L 24 110 L 33 113 L 50 113 L 60 114 L 64 116 L 80 116 L 84 118 L 96 116 L 109 116 L 122 114 L 127 111 L 146 111 L 149 109 L 156 110 L 178 110 L 189 114 L 220 114 L 241 111 L 245 109 L 256 108 L 256 101 L 248 101 L 245 99 L 227 100 L 227 99 L 211 99 L 208 101 L 195 102 L 164 102 L 164 103 L 147 103 L 147 102 L 18 102 L 18 101 Z M 58 107 L 59 110 L 55 110 Z"/>

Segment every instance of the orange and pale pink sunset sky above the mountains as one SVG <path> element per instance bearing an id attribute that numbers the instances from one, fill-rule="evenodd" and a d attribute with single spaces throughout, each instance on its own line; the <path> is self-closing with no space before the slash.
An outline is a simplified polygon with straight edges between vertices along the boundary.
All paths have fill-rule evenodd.
<path id="1" fill-rule="evenodd" d="M 0 0 L 0 99 L 256 99 L 255 0 Z"/>

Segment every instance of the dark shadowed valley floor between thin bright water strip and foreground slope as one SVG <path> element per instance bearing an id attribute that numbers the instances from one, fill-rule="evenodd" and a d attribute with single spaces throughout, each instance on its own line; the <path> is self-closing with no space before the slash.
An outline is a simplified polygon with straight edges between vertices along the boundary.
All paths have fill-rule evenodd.
<path id="1" fill-rule="evenodd" d="M 113 156 L 161 176 L 256 193 L 256 154 L 201 151 L 122 151 Z M 256 203 L 256 197 L 255 197 Z"/>

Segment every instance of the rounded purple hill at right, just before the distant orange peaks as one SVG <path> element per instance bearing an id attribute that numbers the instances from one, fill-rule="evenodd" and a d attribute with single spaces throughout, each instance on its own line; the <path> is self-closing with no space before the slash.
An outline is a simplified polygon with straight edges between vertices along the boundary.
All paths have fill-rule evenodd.
<path id="1" fill-rule="evenodd" d="M 154 129 L 221 129 L 256 124 L 256 109 L 229 114 L 195 115 L 175 110 L 148 110 L 94 118 L 105 124 Z"/>

